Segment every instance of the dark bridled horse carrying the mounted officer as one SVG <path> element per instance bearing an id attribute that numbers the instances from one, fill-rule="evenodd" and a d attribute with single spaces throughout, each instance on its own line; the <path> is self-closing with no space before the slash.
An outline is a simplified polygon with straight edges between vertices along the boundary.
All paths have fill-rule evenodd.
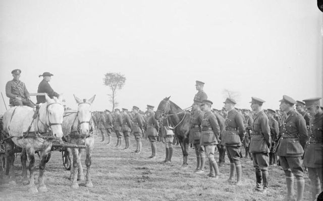
<path id="1" fill-rule="evenodd" d="M 173 126 L 175 136 L 177 137 L 183 152 L 183 165 L 186 167 L 188 156 L 188 136 L 190 133 L 191 113 L 183 111 L 176 104 L 171 102 L 170 97 L 166 97 L 158 105 L 155 112 L 155 119 L 159 119 L 162 115 L 167 116 L 171 126 Z"/>

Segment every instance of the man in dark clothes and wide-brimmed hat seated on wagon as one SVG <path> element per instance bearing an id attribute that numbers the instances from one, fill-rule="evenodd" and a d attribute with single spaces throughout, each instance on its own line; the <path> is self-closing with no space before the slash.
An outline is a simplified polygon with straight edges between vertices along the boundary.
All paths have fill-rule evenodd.
<path id="1" fill-rule="evenodd" d="M 53 98 L 53 96 L 59 97 L 60 94 L 55 92 L 48 83 L 51 80 L 51 76 L 53 76 L 53 74 L 51 74 L 50 72 L 44 72 L 42 73 L 42 75 L 39 75 L 38 77 L 41 77 L 41 76 L 43 77 L 43 79 L 38 85 L 37 93 L 47 93 L 47 95 L 50 98 Z M 37 104 L 40 104 L 40 103 L 46 103 L 46 99 L 44 95 L 37 95 Z"/>

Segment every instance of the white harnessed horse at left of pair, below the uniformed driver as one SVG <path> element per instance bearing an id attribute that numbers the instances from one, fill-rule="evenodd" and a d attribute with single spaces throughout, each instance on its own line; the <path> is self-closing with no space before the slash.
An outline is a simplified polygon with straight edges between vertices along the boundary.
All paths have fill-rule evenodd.
<path id="1" fill-rule="evenodd" d="M 62 97 L 53 99 L 45 95 L 46 103 L 39 105 L 38 109 L 27 106 L 10 108 L 3 117 L 5 133 L 6 165 L 10 179 L 15 182 L 14 173 L 14 147 L 22 148 L 21 163 L 23 184 L 28 184 L 26 161 L 29 158 L 29 192 L 44 192 L 43 174 L 45 164 L 50 156 L 52 140 L 62 140 L 63 113 Z M 38 189 L 34 183 L 35 152 L 39 153 Z"/>

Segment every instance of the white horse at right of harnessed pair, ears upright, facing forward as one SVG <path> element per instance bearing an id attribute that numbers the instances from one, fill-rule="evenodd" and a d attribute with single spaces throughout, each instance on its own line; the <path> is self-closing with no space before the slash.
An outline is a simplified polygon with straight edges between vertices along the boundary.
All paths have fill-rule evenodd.
<path id="1" fill-rule="evenodd" d="M 64 138 L 71 144 L 85 145 L 86 152 L 86 187 L 93 187 L 91 180 L 91 155 L 94 147 L 94 136 L 90 132 L 91 128 L 94 129 L 93 121 L 91 119 L 91 104 L 95 98 L 95 95 L 90 99 L 83 101 L 74 95 L 76 103 L 78 103 L 77 113 L 73 113 L 64 117 L 63 120 L 63 133 Z M 71 157 L 71 149 L 67 149 Z M 71 162 L 71 175 L 70 179 L 72 180 L 72 188 L 78 188 L 79 184 L 77 180 L 84 180 L 83 168 L 81 164 L 81 148 L 72 148 L 73 162 Z"/>

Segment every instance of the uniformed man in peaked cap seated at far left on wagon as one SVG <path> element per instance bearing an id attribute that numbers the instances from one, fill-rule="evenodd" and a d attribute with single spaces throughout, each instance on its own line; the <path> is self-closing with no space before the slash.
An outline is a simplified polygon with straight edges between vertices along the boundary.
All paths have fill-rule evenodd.
<path id="1" fill-rule="evenodd" d="M 26 85 L 19 80 L 21 70 L 15 69 L 11 73 L 14 79 L 6 84 L 6 95 L 10 98 L 9 104 L 12 106 L 29 106 L 34 108 L 34 105 L 30 102 Z"/>

